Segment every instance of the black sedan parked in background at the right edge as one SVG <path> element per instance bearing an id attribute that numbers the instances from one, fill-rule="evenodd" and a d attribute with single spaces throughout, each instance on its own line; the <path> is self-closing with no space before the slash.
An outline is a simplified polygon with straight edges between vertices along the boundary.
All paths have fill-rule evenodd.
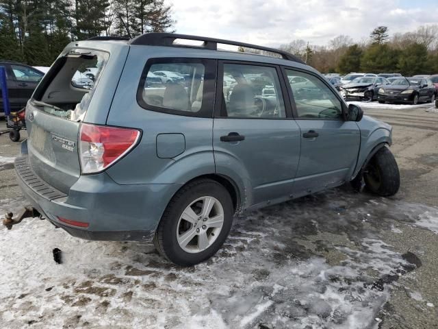
<path id="1" fill-rule="evenodd" d="M 435 101 L 437 91 L 430 79 L 421 77 L 400 77 L 387 86 L 378 89 L 377 100 L 393 103 L 426 103 Z"/>

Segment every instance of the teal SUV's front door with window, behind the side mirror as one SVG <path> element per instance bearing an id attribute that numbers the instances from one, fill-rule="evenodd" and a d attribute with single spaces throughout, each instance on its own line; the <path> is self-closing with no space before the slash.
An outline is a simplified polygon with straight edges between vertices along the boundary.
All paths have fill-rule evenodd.
<path id="1" fill-rule="evenodd" d="M 286 69 L 294 102 L 294 116 L 301 130 L 300 164 L 296 195 L 337 186 L 355 169 L 360 145 L 356 122 L 344 121 L 342 101 L 318 75 Z M 297 83 L 296 77 L 307 80 Z"/>

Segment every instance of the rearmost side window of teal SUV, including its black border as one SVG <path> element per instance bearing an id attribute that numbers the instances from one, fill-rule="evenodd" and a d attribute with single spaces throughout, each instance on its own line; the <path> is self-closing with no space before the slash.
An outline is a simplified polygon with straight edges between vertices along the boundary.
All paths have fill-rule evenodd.
<path id="1" fill-rule="evenodd" d="M 140 80 L 138 103 L 157 112 L 211 117 L 214 76 L 211 60 L 149 60 Z"/>

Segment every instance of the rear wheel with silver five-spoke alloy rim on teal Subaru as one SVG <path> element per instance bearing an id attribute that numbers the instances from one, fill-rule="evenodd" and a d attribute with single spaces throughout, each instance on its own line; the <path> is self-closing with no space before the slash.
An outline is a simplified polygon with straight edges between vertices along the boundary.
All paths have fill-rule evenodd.
<path id="1" fill-rule="evenodd" d="M 196 180 L 172 197 L 153 243 L 159 254 L 173 263 L 196 265 L 216 254 L 227 239 L 233 212 L 233 201 L 224 186 L 214 180 Z M 221 216 L 223 222 L 219 223 Z"/>

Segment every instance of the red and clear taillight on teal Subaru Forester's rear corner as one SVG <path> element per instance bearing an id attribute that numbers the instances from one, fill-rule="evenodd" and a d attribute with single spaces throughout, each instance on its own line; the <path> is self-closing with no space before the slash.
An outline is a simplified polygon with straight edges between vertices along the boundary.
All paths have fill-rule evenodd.
<path id="1" fill-rule="evenodd" d="M 97 173 L 110 167 L 137 143 L 135 129 L 82 123 L 79 132 L 79 156 L 82 173 Z"/>

